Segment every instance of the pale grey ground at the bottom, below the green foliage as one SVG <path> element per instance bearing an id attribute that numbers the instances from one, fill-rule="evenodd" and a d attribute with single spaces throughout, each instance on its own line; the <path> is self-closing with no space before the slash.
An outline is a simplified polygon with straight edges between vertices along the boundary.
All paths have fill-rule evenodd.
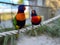
<path id="1" fill-rule="evenodd" d="M 37 37 L 20 36 L 17 45 L 60 45 L 60 38 L 52 38 L 47 35 Z"/>

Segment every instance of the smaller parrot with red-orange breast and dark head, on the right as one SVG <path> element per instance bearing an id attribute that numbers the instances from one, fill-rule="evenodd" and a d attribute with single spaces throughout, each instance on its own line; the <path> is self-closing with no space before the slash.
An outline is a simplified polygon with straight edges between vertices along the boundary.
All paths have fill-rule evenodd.
<path id="1" fill-rule="evenodd" d="M 41 16 L 38 16 L 35 10 L 31 12 L 32 25 L 39 25 L 41 23 Z"/>

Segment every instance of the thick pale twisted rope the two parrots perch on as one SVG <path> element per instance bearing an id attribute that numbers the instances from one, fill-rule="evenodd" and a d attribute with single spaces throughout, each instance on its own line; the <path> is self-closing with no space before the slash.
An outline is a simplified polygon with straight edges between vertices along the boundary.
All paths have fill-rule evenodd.
<path id="1" fill-rule="evenodd" d="M 51 18 L 51 19 L 48 19 L 46 21 L 43 21 L 41 24 L 44 25 L 44 24 L 48 24 L 49 22 L 52 22 L 56 19 L 60 18 L 60 15 L 54 17 L 54 18 Z M 38 26 L 40 25 L 37 25 L 37 26 L 34 26 L 34 29 L 37 28 Z M 26 28 L 22 28 L 19 30 L 19 32 L 25 32 L 25 31 L 28 31 L 28 30 L 31 30 L 32 29 L 32 26 L 29 26 L 29 27 L 26 27 Z M 7 31 L 7 32 L 2 32 L 0 33 L 0 37 L 3 37 L 3 36 L 7 36 L 7 35 L 13 35 L 13 34 L 17 34 L 18 33 L 18 30 L 13 30 L 13 31 Z"/>

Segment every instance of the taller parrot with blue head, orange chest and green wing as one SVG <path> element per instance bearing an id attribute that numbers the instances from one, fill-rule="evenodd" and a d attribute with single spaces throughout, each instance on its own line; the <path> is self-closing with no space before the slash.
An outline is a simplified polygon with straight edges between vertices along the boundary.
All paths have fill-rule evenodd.
<path id="1" fill-rule="evenodd" d="M 17 30 L 21 29 L 25 26 L 25 22 L 26 22 L 26 17 L 25 17 L 25 13 L 24 13 L 25 10 L 26 10 L 25 5 L 22 4 L 22 5 L 18 6 L 17 14 L 13 20 L 14 27 Z M 19 37 L 18 35 L 19 34 L 16 34 L 16 38 Z"/>

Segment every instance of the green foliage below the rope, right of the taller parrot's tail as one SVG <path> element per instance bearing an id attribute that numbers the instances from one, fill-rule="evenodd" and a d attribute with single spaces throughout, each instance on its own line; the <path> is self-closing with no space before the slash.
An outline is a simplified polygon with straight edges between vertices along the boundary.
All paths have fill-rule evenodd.
<path id="1" fill-rule="evenodd" d="M 29 36 L 48 34 L 52 37 L 60 37 L 60 19 L 53 21 L 51 24 L 41 25 L 37 29 L 26 31 L 25 34 Z"/>

